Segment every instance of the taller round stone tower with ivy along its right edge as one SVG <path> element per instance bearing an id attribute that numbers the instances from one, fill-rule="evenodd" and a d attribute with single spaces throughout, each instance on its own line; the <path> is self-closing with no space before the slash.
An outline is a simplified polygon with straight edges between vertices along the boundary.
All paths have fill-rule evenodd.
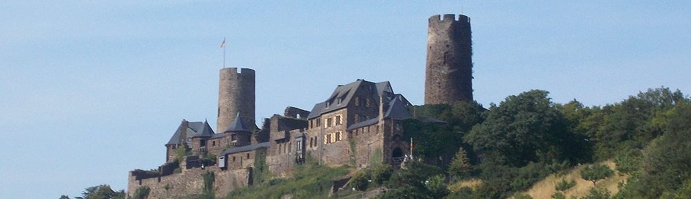
<path id="1" fill-rule="evenodd" d="M 425 104 L 473 101 L 471 19 L 447 14 L 429 19 Z"/>

